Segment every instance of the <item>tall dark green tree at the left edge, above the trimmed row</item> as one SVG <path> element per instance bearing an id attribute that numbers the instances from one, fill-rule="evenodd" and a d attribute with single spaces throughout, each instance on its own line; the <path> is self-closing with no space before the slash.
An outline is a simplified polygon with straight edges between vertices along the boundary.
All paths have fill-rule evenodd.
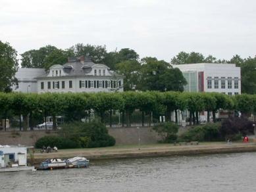
<path id="1" fill-rule="evenodd" d="M 17 52 L 9 43 L 0 41 L 0 92 L 11 92 L 12 85 L 18 85 L 14 78 L 18 70 Z"/>

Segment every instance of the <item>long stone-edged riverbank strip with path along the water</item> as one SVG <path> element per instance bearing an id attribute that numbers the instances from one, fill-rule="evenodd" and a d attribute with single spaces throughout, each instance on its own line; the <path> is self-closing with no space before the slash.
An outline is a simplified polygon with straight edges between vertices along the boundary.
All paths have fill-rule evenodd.
<path id="1" fill-rule="evenodd" d="M 84 156 L 90 160 L 102 160 L 108 158 L 133 158 L 146 156 L 175 156 L 175 155 L 203 155 L 217 153 L 244 153 L 256 152 L 254 143 L 213 143 L 201 145 L 176 145 L 166 144 L 159 146 L 141 145 L 139 147 L 120 149 L 117 147 L 93 148 L 93 149 L 73 149 L 59 150 L 57 153 L 40 153 L 39 149 L 34 154 L 28 156 L 28 161 L 32 164 L 39 164 L 47 158 L 72 158 L 74 156 Z M 33 159 L 33 160 L 31 160 Z"/>

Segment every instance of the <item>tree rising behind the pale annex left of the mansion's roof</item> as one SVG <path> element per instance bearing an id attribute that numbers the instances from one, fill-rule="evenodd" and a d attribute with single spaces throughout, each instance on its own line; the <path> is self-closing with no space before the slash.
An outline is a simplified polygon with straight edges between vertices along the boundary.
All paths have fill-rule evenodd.
<path id="1" fill-rule="evenodd" d="M 41 47 L 40 49 L 32 49 L 20 54 L 22 68 L 44 68 L 45 58 L 49 56 L 57 48 L 52 45 Z"/>

